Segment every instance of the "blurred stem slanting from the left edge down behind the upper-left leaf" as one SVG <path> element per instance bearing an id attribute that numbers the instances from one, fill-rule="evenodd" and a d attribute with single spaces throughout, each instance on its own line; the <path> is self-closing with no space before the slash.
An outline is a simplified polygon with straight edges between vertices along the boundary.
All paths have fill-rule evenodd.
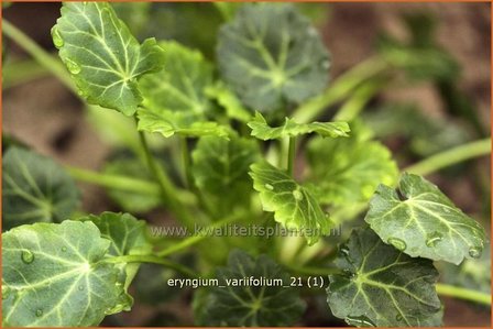
<path id="1" fill-rule="evenodd" d="M 9 21 L 2 20 L 2 32 L 20 45 L 28 54 L 30 54 L 37 63 L 48 69 L 54 76 L 56 76 L 68 89 L 74 91 L 78 96 L 77 88 L 72 81 L 65 66 L 61 61 L 57 61 L 50 53 L 43 50 L 24 32 L 12 25 Z M 78 96 L 79 97 L 79 96 Z"/>

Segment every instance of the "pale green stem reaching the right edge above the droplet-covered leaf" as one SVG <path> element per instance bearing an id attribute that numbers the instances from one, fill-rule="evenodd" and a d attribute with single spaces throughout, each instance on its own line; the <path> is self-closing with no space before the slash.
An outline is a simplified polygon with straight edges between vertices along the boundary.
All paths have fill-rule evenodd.
<path id="1" fill-rule="evenodd" d="M 404 172 L 417 175 L 428 175 L 447 166 L 486 154 L 491 154 L 491 138 L 440 152 L 417 164 L 404 168 Z"/>

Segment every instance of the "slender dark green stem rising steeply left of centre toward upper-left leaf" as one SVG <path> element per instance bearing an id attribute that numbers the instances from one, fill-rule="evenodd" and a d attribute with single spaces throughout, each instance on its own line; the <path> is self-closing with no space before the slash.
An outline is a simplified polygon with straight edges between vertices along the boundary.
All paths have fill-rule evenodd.
<path id="1" fill-rule="evenodd" d="M 135 122 L 136 122 L 135 117 Z M 163 205 L 169 207 L 169 210 L 176 215 L 177 219 L 187 228 L 194 226 L 194 217 L 188 212 L 188 209 L 182 205 L 182 202 L 176 198 L 176 188 L 163 169 L 157 165 L 154 156 L 151 154 L 147 140 L 144 132 L 139 131 L 139 139 L 141 141 L 142 149 L 144 150 L 145 160 L 147 162 L 149 169 L 158 183 L 161 195 L 163 198 Z"/>

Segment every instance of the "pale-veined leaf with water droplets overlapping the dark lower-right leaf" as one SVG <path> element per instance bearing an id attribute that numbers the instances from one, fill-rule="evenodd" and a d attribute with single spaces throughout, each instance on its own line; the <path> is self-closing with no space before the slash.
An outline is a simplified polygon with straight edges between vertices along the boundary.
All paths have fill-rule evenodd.
<path id="1" fill-rule="evenodd" d="M 459 264 L 480 257 L 484 229 L 436 185 L 404 173 L 398 189 L 380 185 L 364 220 L 386 243 L 408 255 Z"/>

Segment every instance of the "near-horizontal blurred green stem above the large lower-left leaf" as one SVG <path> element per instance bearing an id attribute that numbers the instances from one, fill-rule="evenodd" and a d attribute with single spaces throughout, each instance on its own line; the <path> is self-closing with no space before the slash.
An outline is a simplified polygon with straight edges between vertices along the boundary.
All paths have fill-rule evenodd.
<path id="1" fill-rule="evenodd" d="M 160 195 L 160 186 L 147 180 L 119 175 L 108 175 L 72 166 L 66 166 L 65 169 L 72 177 L 79 182 L 90 183 L 106 188 L 130 191 L 140 195 Z M 186 190 L 176 190 L 176 195 L 184 204 L 194 205 L 196 201 L 194 195 Z"/>

